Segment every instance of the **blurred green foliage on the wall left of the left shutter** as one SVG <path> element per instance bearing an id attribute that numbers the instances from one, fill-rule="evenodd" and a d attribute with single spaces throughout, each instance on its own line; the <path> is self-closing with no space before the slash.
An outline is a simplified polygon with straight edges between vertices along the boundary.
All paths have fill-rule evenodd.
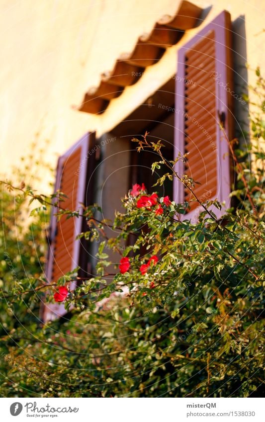
<path id="1" fill-rule="evenodd" d="M 52 170 L 36 144 L 32 144 L 31 150 L 30 156 L 22 157 L 19 166 L 13 167 L 12 179 L 1 185 L 0 338 L 4 340 L 0 344 L 0 367 L 4 374 L 10 370 L 8 358 L 12 355 L 8 341 L 15 350 L 14 333 L 26 327 L 28 333 L 34 334 L 39 324 L 41 298 L 33 289 L 38 278 L 44 280 L 48 211 L 34 213 L 29 218 L 32 205 L 28 195 L 34 194 L 34 185 L 41 181 L 43 172 L 48 185 Z M 14 190 L 12 184 L 18 189 Z"/>

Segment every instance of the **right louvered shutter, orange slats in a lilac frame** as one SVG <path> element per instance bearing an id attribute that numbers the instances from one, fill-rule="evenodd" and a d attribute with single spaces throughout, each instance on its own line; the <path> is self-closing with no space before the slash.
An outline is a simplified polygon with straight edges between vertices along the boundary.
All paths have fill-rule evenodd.
<path id="1" fill-rule="evenodd" d="M 229 145 L 219 126 L 221 119 L 231 140 L 230 27 L 230 14 L 223 11 L 179 49 L 177 60 L 175 156 L 189 154 L 185 163 L 177 163 L 176 170 L 200 183 L 194 188 L 200 200 L 225 201 L 221 211 L 211 208 L 218 218 L 230 206 Z M 202 209 L 177 180 L 174 196 L 178 203 L 189 202 L 182 218 L 196 220 Z"/>

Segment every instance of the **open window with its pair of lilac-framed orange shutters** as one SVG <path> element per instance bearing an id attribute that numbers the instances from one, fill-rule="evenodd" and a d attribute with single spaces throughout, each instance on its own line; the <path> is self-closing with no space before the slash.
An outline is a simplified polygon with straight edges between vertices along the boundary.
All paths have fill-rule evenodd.
<path id="1" fill-rule="evenodd" d="M 131 142 L 134 137 L 140 139 L 148 132 L 149 139 L 161 139 L 168 160 L 179 152 L 188 153 L 185 163 L 179 161 L 176 165 L 178 174 L 187 174 L 199 182 L 194 191 L 200 200 L 217 198 L 224 202 L 221 211 L 213 209 L 218 218 L 229 207 L 228 140 L 232 139 L 233 99 L 230 24 L 228 12 L 218 15 L 179 49 L 177 75 L 110 133 L 99 139 L 88 134 L 60 157 L 55 191 L 63 191 L 67 199 L 64 202 L 59 197 L 54 199 L 46 265 L 49 282 L 77 266 L 81 267 L 80 274 L 85 275 L 89 272 L 88 263 L 92 268 L 95 266 L 96 246 L 92 246 L 89 258 L 88 245 L 76 240 L 86 230 L 82 203 L 98 203 L 103 211 L 100 217 L 112 220 L 115 210 L 122 211 L 120 198 L 132 184 L 144 182 L 149 193 L 156 190 L 160 196 L 169 195 L 178 203 L 186 201 L 190 207 L 182 218 L 196 219 L 200 207 L 176 178 L 174 186 L 166 182 L 162 187 L 152 187 L 160 177 L 159 173 L 152 175 L 151 170 L 159 156 L 151 151 L 137 153 L 137 145 Z M 81 217 L 63 216 L 58 222 L 54 215 L 58 204 L 79 210 Z M 112 228 L 108 229 L 109 237 L 114 237 Z M 75 286 L 73 283 L 71 288 Z M 65 312 L 63 305 L 45 305 L 43 319 L 54 319 Z"/>

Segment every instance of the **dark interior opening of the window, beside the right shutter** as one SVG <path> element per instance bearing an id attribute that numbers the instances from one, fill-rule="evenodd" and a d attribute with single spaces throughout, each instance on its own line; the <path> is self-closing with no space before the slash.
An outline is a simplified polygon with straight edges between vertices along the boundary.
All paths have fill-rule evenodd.
<path id="1" fill-rule="evenodd" d="M 165 148 L 163 154 L 167 159 L 174 158 L 174 126 L 175 126 L 175 78 L 171 78 L 160 89 L 150 95 L 143 104 L 134 110 L 125 120 L 120 122 L 111 133 L 123 140 L 130 141 L 129 185 L 145 183 L 149 193 L 158 191 L 161 196 L 173 196 L 173 183 L 166 181 L 164 186 L 154 183 L 162 175 L 158 170 L 152 174 L 152 164 L 160 161 L 158 154 L 148 150 L 136 151 L 137 144 L 132 138 L 141 139 L 148 132 L 147 138 L 156 142 L 161 139 Z M 161 169 L 163 171 L 163 169 Z"/>

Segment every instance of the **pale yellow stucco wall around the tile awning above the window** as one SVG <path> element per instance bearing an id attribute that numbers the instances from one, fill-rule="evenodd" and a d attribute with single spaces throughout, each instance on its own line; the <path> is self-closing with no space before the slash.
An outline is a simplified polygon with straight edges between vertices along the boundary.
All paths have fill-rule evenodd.
<path id="1" fill-rule="evenodd" d="M 209 7 L 207 24 L 227 9 L 232 20 L 246 19 L 247 59 L 265 70 L 265 3 L 258 0 L 194 0 Z M 176 71 L 176 47 L 127 88 L 101 116 L 76 111 L 86 90 L 99 84 L 121 53 L 131 51 L 139 35 L 177 0 L 2 0 L 0 3 L 0 172 L 29 151 L 36 132 L 50 139 L 49 155 L 62 153 L 88 129 L 98 134 L 113 127 Z M 188 31 L 186 42 L 197 28 Z M 244 42 L 244 39 L 242 39 Z M 245 58 L 242 59 L 243 62 Z M 252 83 L 252 74 L 249 82 Z"/>

